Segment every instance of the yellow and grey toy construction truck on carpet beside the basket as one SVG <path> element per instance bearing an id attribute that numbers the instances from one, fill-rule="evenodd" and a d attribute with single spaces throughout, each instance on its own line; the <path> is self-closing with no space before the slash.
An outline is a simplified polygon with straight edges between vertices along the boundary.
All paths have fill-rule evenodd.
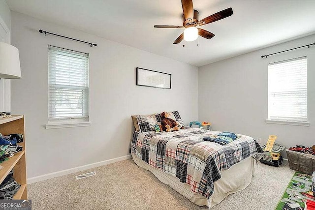
<path id="1" fill-rule="evenodd" d="M 275 143 L 276 139 L 277 136 L 270 135 L 267 144 L 261 147 L 265 154 L 260 162 L 278 167 L 282 164 L 281 151 L 285 149 L 285 146 Z"/>

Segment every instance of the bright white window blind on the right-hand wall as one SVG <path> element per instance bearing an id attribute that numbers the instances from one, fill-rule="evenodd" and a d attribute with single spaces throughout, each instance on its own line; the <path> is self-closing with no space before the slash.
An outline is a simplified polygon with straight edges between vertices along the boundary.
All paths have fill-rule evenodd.
<path id="1" fill-rule="evenodd" d="M 307 57 L 268 64 L 268 120 L 307 121 Z"/>

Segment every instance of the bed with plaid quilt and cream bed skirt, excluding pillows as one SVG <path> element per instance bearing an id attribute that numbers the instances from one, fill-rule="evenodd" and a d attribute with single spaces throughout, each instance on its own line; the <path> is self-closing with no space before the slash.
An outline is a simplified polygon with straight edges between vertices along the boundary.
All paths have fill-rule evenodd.
<path id="1" fill-rule="evenodd" d="M 227 145 L 203 141 L 221 132 L 185 126 L 174 132 L 134 131 L 134 162 L 199 206 L 209 209 L 252 181 L 263 150 L 246 135 Z"/>

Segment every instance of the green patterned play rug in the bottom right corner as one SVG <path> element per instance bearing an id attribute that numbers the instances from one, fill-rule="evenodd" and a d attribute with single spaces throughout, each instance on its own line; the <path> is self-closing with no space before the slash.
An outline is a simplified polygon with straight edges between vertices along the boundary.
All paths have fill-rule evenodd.
<path id="1" fill-rule="evenodd" d="M 312 176 L 295 172 L 276 210 L 303 210 L 306 199 L 315 201 L 312 195 Z"/>

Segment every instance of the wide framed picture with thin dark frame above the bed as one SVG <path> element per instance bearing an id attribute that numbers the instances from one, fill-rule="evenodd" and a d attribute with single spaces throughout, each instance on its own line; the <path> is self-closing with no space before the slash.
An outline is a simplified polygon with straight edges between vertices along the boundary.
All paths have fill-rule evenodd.
<path id="1" fill-rule="evenodd" d="M 137 85 L 171 89 L 172 75 L 137 67 Z"/>

